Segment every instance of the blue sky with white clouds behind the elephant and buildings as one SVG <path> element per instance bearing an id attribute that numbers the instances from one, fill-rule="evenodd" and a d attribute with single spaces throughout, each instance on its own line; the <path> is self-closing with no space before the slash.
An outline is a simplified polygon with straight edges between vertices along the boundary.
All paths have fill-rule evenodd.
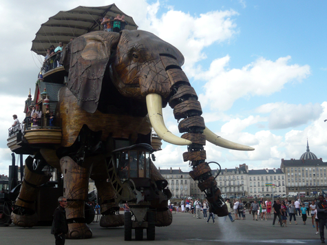
<path id="1" fill-rule="evenodd" d="M 17 4 L 17 2 L 19 4 Z M 34 0 L 3 3 L 0 61 L 0 174 L 8 173 L 6 147 L 12 114 L 23 119 L 23 101 L 34 89 L 42 57 L 30 52 L 41 23 L 60 10 L 89 1 Z M 255 147 L 240 152 L 207 144 L 207 159 L 231 168 L 280 166 L 310 150 L 327 160 L 326 1 L 115 1 L 141 30 L 154 32 L 184 54 L 183 70 L 198 93 L 207 127 L 218 135 Z M 92 1 L 105 6 L 108 1 Z M 39 6 L 38 10 L 34 6 Z M 19 17 L 12 22 L 12 17 Z M 19 61 L 19 65 L 17 65 Z M 10 102 L 10 103 L 9 103 Z M 164 111 L 178 134 L 172 110 Z M 186 147 L 164 144 L 157 167 L 188 171 Z"/>

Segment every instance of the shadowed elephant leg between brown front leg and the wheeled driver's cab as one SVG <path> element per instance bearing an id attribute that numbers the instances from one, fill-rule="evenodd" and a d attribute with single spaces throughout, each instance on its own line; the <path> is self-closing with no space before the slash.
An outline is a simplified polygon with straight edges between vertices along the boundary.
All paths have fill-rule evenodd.
<path id="1" fill-rule="evenodd" d="M 124 215 L 116 215 L 119 206 L 115 202 L 116 194 L 112 184 L 105 180 L 95 180 L 98 197 L 101 199 L 101 227 L 117 227 L 124 225 Z"/>

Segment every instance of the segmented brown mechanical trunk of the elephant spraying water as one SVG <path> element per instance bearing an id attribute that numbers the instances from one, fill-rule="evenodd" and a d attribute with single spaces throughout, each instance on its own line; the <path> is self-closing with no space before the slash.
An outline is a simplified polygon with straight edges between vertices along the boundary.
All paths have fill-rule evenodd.
<path id="1" fill-rule="evenodd" d="M 221 197 L 220 189 L 211 173 L 211 168 L 206 162 L 206 136 L 203 134 L 204 119 L 198 96 L 191 87 L 187 76 L 171 57 L 161 56 L 162 63 L 166 68 L 171 81 L 171 97 L 169 105 L 173 109 L 173 114 L 177 120 L 180 133 L 184 133 L 182 138 L 189 140 L 187 152 L 183 153 L 184 162 L 189 161 L 192 167 L 191 178 L 198 181 L 198 187 L 207 195 L 210 203 L 210 211 L 218 216 L 228 215 L 227 206 Z"/>

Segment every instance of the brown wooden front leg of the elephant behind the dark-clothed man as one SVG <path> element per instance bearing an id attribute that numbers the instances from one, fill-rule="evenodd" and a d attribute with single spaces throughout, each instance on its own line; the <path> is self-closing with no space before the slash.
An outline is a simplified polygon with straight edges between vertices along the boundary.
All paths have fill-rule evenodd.
<path id="1" fill-rule="evenodd" d="M 79 166 L 72 158 L 65 156 L 60 160 L 63 173 L 63 195 L 67 198 L 66 218 L 67 238 L 91 238 L 92 231 L 85 222 L 84 206 L 87 200 L 89 168 Z"/>

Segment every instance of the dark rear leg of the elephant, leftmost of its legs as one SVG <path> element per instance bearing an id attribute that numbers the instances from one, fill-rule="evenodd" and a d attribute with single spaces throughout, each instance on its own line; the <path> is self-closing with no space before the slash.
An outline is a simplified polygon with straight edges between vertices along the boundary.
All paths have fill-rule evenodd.
<path id="1" fill-rule="evenodd" d="M 52 176 L 49 172 L 41 171 L 45 164 L 44 160 L 34 160 L 30 156 L 25 160 L 24 179 L 11 214 L 11 220 L 17 226 L 32 227 L 39 221 L 35 211 L 39 187 L 48 182 Z"/>

